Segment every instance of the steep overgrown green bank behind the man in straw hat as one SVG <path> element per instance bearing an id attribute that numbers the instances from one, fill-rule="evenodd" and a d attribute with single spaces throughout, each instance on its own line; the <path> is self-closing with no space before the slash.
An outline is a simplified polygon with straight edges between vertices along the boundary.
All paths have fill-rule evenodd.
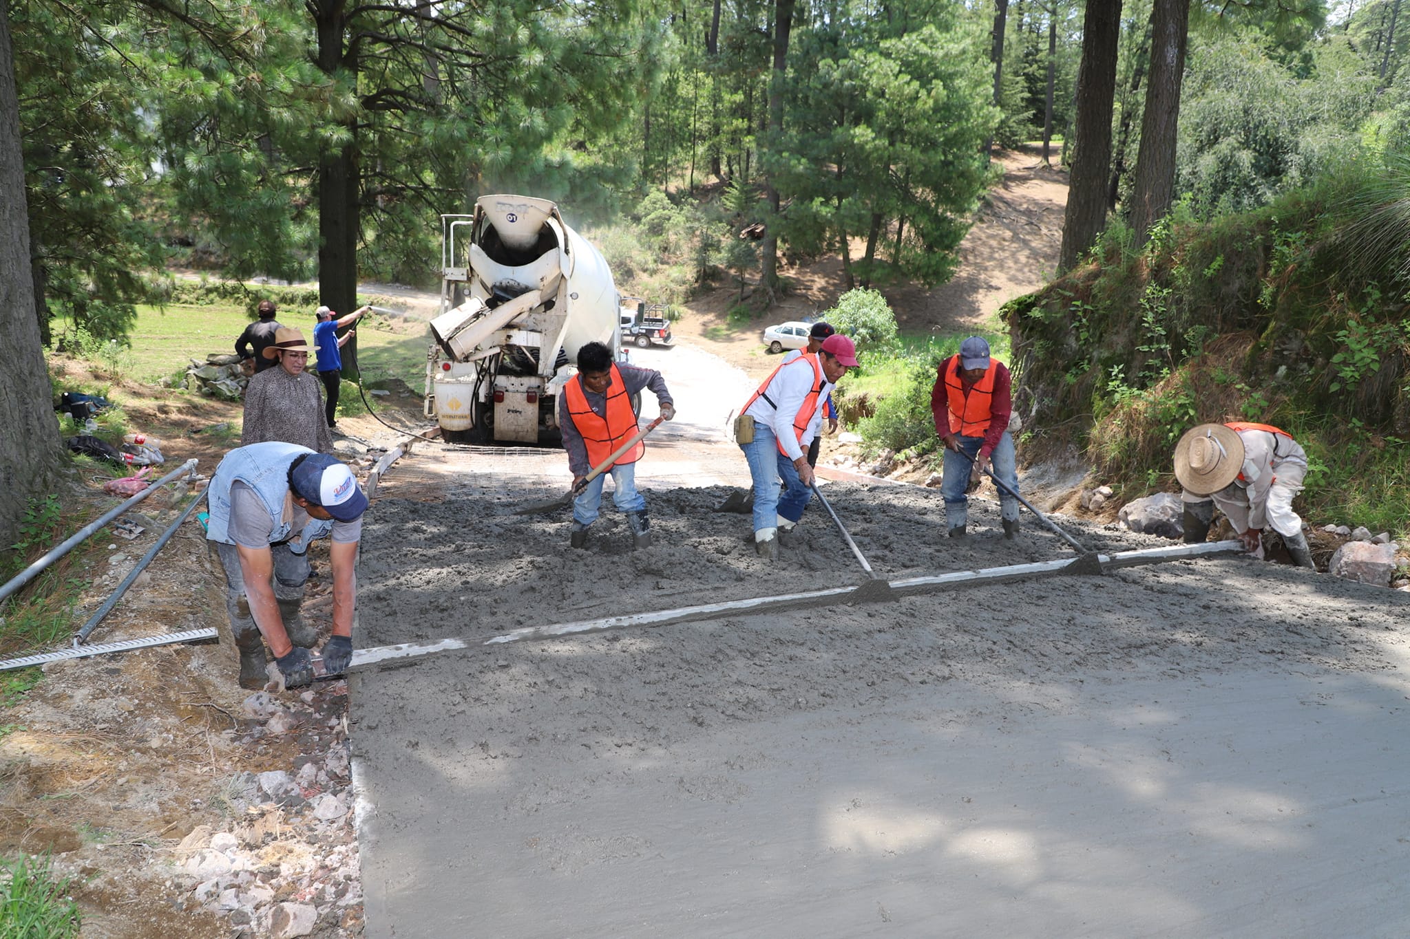
<path id="1" fill-rule="evenodd" d="M 1177 489 L 1172 450 L 1193 424 L 1275 424 L 1308 452 L 1311 521 L 1404 539 L 1406 284 L 1365 239 L 1385 204 L 1368 194 L 1383 191 L 1351 176 L 1248 214 L 1176 217 L 1141 251 L 1117 225 L 1010 303 L 1026 455 L 1076 445 L 1129 498 Z"/>

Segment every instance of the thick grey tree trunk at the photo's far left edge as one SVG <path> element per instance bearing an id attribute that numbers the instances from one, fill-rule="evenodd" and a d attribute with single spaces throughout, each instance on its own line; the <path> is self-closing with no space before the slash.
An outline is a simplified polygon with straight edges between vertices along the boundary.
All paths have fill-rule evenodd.
<path id="1" fill-rule="evenodd" d="M 35 318 L 7 0 L 0 0 L 0 545 L 8 546 L 28 501 L 48 489 L 61 445 Z"/>

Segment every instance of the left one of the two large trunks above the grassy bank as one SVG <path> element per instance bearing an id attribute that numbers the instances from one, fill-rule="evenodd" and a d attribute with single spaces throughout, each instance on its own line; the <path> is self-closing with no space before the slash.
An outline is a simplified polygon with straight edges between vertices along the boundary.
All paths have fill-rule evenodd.
<path id="1" fill-rule="evenodd" d="M 1077 66 L 1077 120 L 1067 210 L 1058 270 L 1070 270 L 1107 224 L 1107 170 L 1111 162 L 1111 104 L 1117 97 L 1117 41 L 1121 0 L 1087 0 Z"/>

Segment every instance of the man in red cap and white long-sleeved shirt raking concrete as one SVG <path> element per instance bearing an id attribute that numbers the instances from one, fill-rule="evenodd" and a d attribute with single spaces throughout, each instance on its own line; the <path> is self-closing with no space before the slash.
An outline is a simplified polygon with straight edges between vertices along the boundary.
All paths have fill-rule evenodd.
<path id="1" fill-rule="evenodd" d="M 823 401 L 856 365 L 852 339 L 828 336 L 818 352 L 780 363 L 735 421 L 735 439 L 754 483 L 754 550 L 760 557 L 778 557 L 780 532 L 792 531 L 812 498 L 808 445 L 822 428 Z"/>

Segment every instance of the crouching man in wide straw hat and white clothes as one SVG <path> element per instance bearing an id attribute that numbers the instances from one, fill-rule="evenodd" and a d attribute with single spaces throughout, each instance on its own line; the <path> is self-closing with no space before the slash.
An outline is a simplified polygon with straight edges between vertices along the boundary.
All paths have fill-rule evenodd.
<path id="1" fill-rule="evenodd" d="M 1218 505 L 1251 553 L 1263 556 L 1266 525 L 1283 536 L 1296 565 L 1316 570 L 1303 519 L 1293 511 L 1306 474 L 1307 453 L 1287 431 L 1242 421 L 1191 428 L 1175 445 L 1184 541 L 1208 538 Z"/>

